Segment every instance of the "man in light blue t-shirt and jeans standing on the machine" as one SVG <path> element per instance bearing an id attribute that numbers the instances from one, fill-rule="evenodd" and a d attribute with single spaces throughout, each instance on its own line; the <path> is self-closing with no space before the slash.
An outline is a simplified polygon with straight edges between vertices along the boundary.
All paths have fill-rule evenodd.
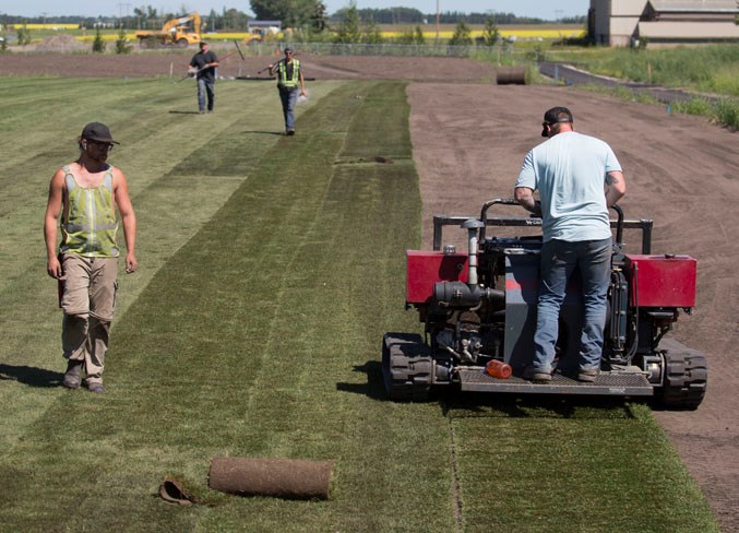
<path id="1" fill-rule="evenodd" d="M 541 137 L 548 140 L 528 152 L 514 190 L 521 205 L 541 216 L 544 237 L 535 354 L 524 377 L 551 381 L 559 311 L 568 280 L 579 270 L 584 320 L 576 378 L 595 381 L 610 283 L 608 209 L 625 194 L 625 181 L 611 147 L 576 133 L 568 108 L 553 107 L 544 115 Z M 534 191 L 539 192 L 540 201 L 535 200 Z"/>

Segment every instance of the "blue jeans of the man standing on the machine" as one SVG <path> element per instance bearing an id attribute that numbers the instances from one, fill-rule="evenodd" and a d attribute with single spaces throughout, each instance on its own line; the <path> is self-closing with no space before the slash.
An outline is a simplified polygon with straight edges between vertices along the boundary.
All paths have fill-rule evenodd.
<path id="1" fill-rule="evenodd" d="M 568 242 L 548 240 L 541 247 L 541 275 L 534 335 L 534 370 L 551 372 L 559 333 L 559 311 L 570 276 L 579 268 L 582 277 L 583 331 L 580 369 L 599 369 L 610 285 L 611 239 Z"/>

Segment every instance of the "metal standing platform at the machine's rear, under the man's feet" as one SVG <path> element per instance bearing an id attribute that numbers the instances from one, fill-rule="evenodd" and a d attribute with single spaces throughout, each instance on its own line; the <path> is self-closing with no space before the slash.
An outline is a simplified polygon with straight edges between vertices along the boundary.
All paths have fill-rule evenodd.
<path id="1" fill-rule="evenodd" d="M 548 383 L 510 377 L 498 379 L 489 376 L 484 367 L 458 369 L 461 390 L 476 392 L 516 392 L 521 394 L 593 394 L 618 396 L 652 396 L 654 387 L 646 377 L 635 372 L 604 372 L 592 383 L 577 381 L 555 374 Z"/>

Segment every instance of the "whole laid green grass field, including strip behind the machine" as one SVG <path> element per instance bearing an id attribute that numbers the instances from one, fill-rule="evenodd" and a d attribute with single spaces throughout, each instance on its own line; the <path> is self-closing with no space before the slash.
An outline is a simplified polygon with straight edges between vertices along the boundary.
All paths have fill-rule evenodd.
<path id="1" fill-rule="evenodd" d="M 312 84 L 295 138 L 272 84 L 219 83 L 213 116 L 167 80 L 0 90 L 0 531 L 718 531 L 645 405 L 384 399 L 382 333 L 419 329 L 403 83 Z M 41 234 L 92 120 L 140 226 L 104 395 L 60 387 Z M 331 499 L 210 490 L 216 455 L 333 460 Z M 159 499 L 165 475 L 199 502 Z"/>

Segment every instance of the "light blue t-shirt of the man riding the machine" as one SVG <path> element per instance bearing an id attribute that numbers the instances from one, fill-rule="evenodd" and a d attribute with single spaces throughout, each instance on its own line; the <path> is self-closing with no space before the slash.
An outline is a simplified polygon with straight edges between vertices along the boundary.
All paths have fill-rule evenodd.
<path id="1" fill-rule="evenodd" d="M 539 191 L 545 241 L 600 240 L 611 236 L 605 185 L 613 170 L 621 165 L 608 144 L 564 131 L 526 154 L 515 186 Z"/>

